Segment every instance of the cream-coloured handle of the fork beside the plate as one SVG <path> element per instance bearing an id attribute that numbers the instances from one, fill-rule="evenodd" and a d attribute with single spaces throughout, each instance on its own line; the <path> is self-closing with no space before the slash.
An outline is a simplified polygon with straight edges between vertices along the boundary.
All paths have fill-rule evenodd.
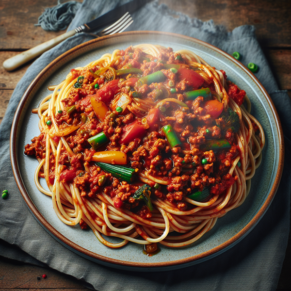
<path id="1" fill-rule="evenodd" d="M 50 39 L 32 49 L 25 50 L 3 62 L 3 67 L 6 71 L 12 71 L 18 68 L 20 65 L 27 63 L 28 61 L 34 59 L 35 57 L 41 55 L 45 51 L 55 47 L 57 44 L 67 39 L 70 36 L 73 36 L 76 33 L 75 30 L 65 32 L 53 39 Z"/>

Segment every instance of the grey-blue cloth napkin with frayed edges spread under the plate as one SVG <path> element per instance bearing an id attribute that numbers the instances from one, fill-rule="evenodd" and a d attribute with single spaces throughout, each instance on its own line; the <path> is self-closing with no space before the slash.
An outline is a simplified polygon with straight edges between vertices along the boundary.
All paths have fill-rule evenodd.
<path id="1" fill-rule="evenodd" d="M 84 0 L 68 29 L 73 29 L 126 1 Z M 130 30 L 176 32 L 206 41 L 228 53 L 239 51 L 244 65 L 259 65 L 256 74 L 271 95 L 283 129 L 291 128 L 290 98 L 279 91 L 252 26 L 227 32 L 210 20 L 202 22 L 170 11 L 157 2 L 147 3 L 135 13 Z M 128 29 L 128 30 L 129 30 Z M 259 224 L 225 253 L 192 267 L 167 272 L 128 272 L 98 265 L 71 252 L 52 238 L 34 219 L 18 191 L 9 157 L 9 134 L 17 104 L 35 76 L 66 50 L 92 39 L 81 33 L 39 57 L 19 81 L 0 124 L 0 189 L 8 189 L 0 199 L 0 255 L 49 266 L 86 282 L 98 291 L 143 290 L 275 290 L 285 256 L 290 221 L 291 136 L 284 130 L 285 165 L 277 194 Z M 90 287 L 91 286 L 91 287 Z"/>

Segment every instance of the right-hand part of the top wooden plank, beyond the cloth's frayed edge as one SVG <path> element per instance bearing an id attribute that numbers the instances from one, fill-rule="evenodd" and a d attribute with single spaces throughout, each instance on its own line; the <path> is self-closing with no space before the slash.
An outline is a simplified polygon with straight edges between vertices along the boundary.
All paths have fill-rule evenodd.
<path id="1" fill-rule="evenodd" d="M 160 0 L 172 10 L 196 17 L 212 19 L 228 31 L 241 25 L 254 25 L 262 46 L 291 47 L 291 1 L 276 0 Z"/>

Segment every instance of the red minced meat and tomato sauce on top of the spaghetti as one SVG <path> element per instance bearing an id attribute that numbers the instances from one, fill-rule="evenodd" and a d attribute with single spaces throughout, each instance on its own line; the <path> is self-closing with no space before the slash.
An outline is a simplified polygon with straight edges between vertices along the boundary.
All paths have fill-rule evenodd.
<path id="1" fill-rule="evenodd" d="M 62 149 L 59 160 L 62 167 L 60 181 L 74 183 L 81 196 L 96 197 L 104 192 L 113 199 L 114 207 L 132 210 L 145 218 L 151 217 L 146 206 L 133 198 L 135 191 L 143 184 L 141 181 L 136 179 L 129 183 L 114 178 L 93 161 L 97 151 L 120 151 L 127 155 L 126 166 L 135 169 L 137 175 L 142 173 L 164 181 L 159 187 L 152 188 L 152 197 L 167 199 L 177 205 L 179 210 L 194 207 L 183 201 L 183 197 L 194 191 L 209 187 L 211 195 L 224 193 L 237 179 L 229 175 L 228 171 L 233 159 L 240 154 L 235 133 L 226 125 L 227 110 L 215 95 L 208 99 L 198 96 L 193 100 L 187 100 L 184 95 L 185 92 L 201 88 L 214 90 L 213 82 L 204 81 L 199 70 L 187 65 L 172 49 L 163 49 L 158 58 L 132 47 L 119 54 L 123 60 L 111 64 L 114 70 L 138 68 L 141 73 L 127 73 L 111 80 L 110 72 L 106 71 L 95 82 L 99 85 L 98 89 L 92 85 L 97 78 L 95 72 L 100 69 L 98 66 L 71 70 L 74 77 L 83 78 L 80 87 L 72 87 L 68 97 L 63 100 L 65 110 L 57 113 L 55 120 L 62 130 L 78 125 L 84 116 L 86 118 L 78 129 L 65 136 L 74 155 L 69 157 L 65 147 Z M 166 64 L 180 67 L 178 71 L 171 70 Z M 162 81 L 139 83 L 141 77 L 157 71 L 162 72 Z M 222 73 L 226 78 L 226 73 Z M 131 103 L 118 113 L 112 104 L 120 94 L 125 94 Z M 242 104 L 245 96 L 245 92 L 232 83 L 228 83 L 227 94 L 238 105 Z M 91 98 L 102 101 L 108 107 L 104 121 L 100 121 L 97 116 Z M 178 102 L 163 102 L 167 98 Z M 157 106 L 158 103 L 160 106 Z M 183 105 L 185 103 L 188 108 Z M 72 113 L 68 113 L 71 106 L 75 108 Z M 162 131 L 166 125 L 174 129 L 180 142 L 178 146 L 172 147 Z M 88 139 L 100 132 L 104 132 L 108 143 L 96 150 Z M 59 139 L 53 137 L 54 142 Z M 203 149 L 208 141 L 219 140 L 226 140 L 229 147 Z M 41 159 L 46 156 L 43 133 L 32 139 L 32 144 L 25 146 L 25 154 Z M 54 159 L 53 154 L 50 154 L 50 184 L 55 179 Z M 102 185 L 101 176 L 105 177 Z M 153 187 L 155 181 L 149 180 L 148 184 Z M 80 225 L 85 228 L 83 221 Z"/>

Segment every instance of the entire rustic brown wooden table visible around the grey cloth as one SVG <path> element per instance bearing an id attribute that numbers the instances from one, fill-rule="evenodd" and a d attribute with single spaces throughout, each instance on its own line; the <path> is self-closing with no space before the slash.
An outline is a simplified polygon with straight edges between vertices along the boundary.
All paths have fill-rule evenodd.
<path id="1" fill-rule="evenodd" d="M 291 97 L 290 0 L 160 0 L 160 3 L 203 21 L 213 19 L 215 24 L 225 25 L 228 31 L 244 24 L 254 25 L 279 88 L 288 90 Z M 63 33 L 46 32 L 34 26 L 44 9 L 56 4 L 57 0 L 0 1 L 0 122 L 17 82 L 32 62 L 13 72 L 6 72 L 1 64 L 19 51 L 30 49 Z M 47 278 L 38 280 L 37 277 L 43 274 Z M 291 240 L 277 290 L 291 290 L 290 274 Z M 0 290 L 19 289 L 89 290 L 74 277 L 0 256 Z"/>

